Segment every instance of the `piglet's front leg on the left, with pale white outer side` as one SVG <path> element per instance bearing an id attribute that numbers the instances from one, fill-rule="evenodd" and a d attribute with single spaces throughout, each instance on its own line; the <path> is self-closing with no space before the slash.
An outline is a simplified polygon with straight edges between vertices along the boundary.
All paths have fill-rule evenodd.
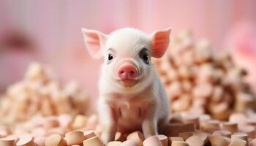
<path id="1" fill-rule="evenodd" d="M 102 128 L 102 142 L 107 145 L 108 142 L 115 139 L 117 131 L 117 118 L 115 111 L 105 103 L 99 102 L 99 124 Z"/>

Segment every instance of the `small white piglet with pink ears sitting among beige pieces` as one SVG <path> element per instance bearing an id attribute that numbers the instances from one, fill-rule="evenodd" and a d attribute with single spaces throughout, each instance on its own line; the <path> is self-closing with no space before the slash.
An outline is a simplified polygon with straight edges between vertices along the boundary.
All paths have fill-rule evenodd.
<path id="1" fill-rule="evenodd" d="M 170 42 L 170 28 L 147 35 L 121 28 L 106 35 L 82 29 L 92 58 L 104 57 L 99 77 L 99 125 L 102 142 L 116 131 L 143 131 L 145 138 L 163 133 L 169 120 L 169 101 L 151 57 L 161 58 Z"/>

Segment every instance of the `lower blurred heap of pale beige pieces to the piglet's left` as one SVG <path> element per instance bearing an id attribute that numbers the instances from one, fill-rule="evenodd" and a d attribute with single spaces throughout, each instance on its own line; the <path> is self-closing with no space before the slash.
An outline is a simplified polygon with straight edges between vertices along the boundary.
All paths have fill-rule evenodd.
<path id="1" fill-rule="evenodd" d="M 14 123 L 34 115 L 84 114 L 89 97 L 76 82 L 61 86 L 48 66 L 33 63 L 20 82 L 1 97 L 0 123 Z"/>

